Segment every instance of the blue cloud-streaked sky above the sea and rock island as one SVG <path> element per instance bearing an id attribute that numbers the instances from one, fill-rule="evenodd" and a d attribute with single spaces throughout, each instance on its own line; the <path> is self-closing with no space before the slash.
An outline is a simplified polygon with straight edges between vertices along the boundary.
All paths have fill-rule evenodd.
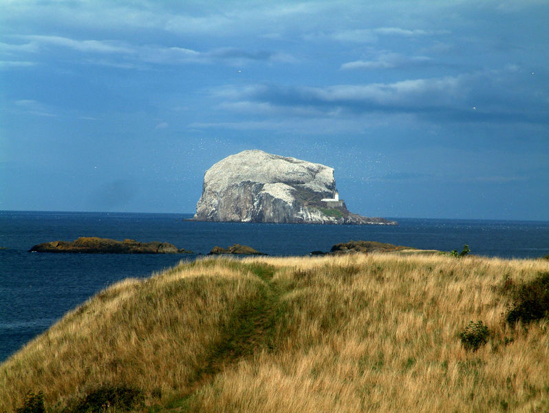
<path id="1" fill-rule="evenodd" d="M 549 1 L 0 0 L 0 210 L 194 213 L 245 149 L 350 211 L 549 220 Z"/>

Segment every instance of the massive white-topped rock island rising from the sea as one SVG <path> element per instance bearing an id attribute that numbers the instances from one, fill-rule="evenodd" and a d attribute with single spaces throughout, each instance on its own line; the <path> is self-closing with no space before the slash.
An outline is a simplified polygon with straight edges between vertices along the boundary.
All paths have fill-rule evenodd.
<path id="1" fill-rule="evenodd" d="M 292 224 L 396 224 L 350 213 L 323 198 L 336 191 L 334 169 L 324 165 L 243 151 L 220 160 L 204 175 L 198 221 Z"/>

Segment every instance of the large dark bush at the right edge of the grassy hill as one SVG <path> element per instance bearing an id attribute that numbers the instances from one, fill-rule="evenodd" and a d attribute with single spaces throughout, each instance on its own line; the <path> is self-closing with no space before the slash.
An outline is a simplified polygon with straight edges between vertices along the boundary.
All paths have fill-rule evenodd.
<path id="1" fill-rule="evenodd" d="M 508 324 L 522 321 L 528 324 L 547 317 L 549 313 L 549 273 L 539 273 L 532 281 L 517 286 L 513 303 L 507 310 Z"/>

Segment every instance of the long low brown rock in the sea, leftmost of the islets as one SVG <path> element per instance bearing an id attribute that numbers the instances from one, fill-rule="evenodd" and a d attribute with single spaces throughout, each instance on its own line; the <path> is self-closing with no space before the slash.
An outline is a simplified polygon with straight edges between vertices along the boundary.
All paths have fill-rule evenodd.
<path id="1" fill-rule="evenodd" d="M 74 241 L 53 241 L 30 248 L 37 253 L 87 253 L 87 254 L 192 254 L 169 242 L 137 242 L 135 240 L 109 240 L 109 238 L 80 237 Z"/>

